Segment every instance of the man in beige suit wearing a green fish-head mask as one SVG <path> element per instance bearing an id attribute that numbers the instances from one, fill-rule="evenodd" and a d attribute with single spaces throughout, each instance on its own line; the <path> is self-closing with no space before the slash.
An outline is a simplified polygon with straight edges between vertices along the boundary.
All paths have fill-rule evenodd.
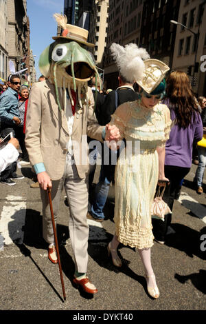
<path id="1" fill-rule="evenodd" d="M 82 44 L 88 31 L 67 24 L 67 18 L 54 14 L 63 32 L 41 54 L 39 69 L 47 78 L 32 85 L 27 107 L 25 143 L 34 166 L 43 201 L 43 237 L 49 243 L 48 257 L 58 263 L 54 245 L 47 187 L 52 188 L 54 219 L 57 220 L 60 194 L 65 188 L 69 202 L 69 236 L 74 254 L 73 283 L 85 292 L 98 292 L 87 277 L 88 237 L 88 145 L 87 134 L 103 141 L 104 126 L 93 114 L 94 101 L 87 82 L 98 70 L 93 57 Z M 97 87 L 96 87 L 97 88 Z M 115 129 L 114 136 L 119 135 Z"/>

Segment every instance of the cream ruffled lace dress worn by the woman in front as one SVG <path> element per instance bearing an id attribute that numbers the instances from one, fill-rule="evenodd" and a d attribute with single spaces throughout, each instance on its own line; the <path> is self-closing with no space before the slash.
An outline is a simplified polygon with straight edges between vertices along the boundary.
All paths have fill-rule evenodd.
<path id="1" fill-rule="evenodd" d="M 115 169 L 115 234 L 124 245 L 149 248 L 154 239 L 150 208 L 159 173 L 156 148 L 169 138 L 170 110 L 160 103 L 153 108 L 140 101 L 123 103 L 112 115 L 113 124 L 126 139 Z"/>

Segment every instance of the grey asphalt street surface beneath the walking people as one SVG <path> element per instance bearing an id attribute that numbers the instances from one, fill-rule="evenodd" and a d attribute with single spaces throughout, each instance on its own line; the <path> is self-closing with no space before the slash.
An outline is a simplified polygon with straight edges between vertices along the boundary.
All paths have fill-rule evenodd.
<path id="1" fill-rule="evenodd" d="M 152 247 L 160 291 L 157 300 L 146 291 L 143 265 L 135 249 L 120 245 L 124 259 L 120 270 L 108 258 L 106 246 L 114 232 L 112 187 L 105 208 L 106 221 L 88 220 L 88 276 L 98 287 L 98 294 L 88 296 L 73 287 L 68 207 L 62 192 L 57 231 L 65 302 L 58 265 L 47 258 L 47 245 L 42 239 L 41 199 L 39 190 L 30 188 L 31 167 L 17 170 L 25 179 L 12 187 L 0 184 L 0 310 L 73 310 L 77 315 L 81 310 L 124 310 L 128 314 L 130 310 L 206 310 L 206 182 L 204 193 L 198 195 L 192 188 L 195 170 L 196 165 L 192 165 L 180 199 L 175 201 L 173 231 L 167 243 L 154 242 Z"/>

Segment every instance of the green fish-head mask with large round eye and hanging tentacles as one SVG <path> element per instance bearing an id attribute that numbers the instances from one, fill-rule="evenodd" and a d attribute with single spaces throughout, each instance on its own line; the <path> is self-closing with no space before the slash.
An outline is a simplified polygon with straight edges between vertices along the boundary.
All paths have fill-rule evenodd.
<path id="1" fill-rule="evenodd" d="M 64 16 L 58 15 L 58 17 Z M 54 39 L 57 40 L 45 48 L 41 54 L 38 62 L 39 70 L 49 79 L 50 83 L 54 83 L 59 110 L 62 110 L 62 108 L 59 101 L 58 88 L 63 89 L 64 108 L 67 102 L 67 90 L 73 105 L 71 89 L 77 92 L 78 104 L 82 108 L 83 103 L 89 104 L 87 82 L 95 76 L 95 88 L 97 89 L 98 79 L 100 81 L 93 54 L 83 48 L 80 45 L 81 42 L 72 41 L 69 37 L 55 37 Z"/>

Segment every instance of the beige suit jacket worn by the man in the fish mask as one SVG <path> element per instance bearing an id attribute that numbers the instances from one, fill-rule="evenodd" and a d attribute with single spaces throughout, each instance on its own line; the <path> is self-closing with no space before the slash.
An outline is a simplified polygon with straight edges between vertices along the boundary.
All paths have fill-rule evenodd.
<path id="1" fill-rule="evenodd" d="M 60 104 L 62 97 L 60 96 Z M 98 124 L 93 115 L 93 94 L 88 89 L 89 108 L 83 105 L 82 113 L 74 115 L 72 143 L 76 167 L 81 179 L 89 171 L 87 134 L 102 141 L 104 126 Z M 52 180 L 62 177 L 65 170 L 69 132 L 65 112 L 58 109 L 54 84 L 48 80 L 32 85 L 27 106 L 25 145 L 30 163 L 44 163 L 46 172 Z M 86 159 L 85 159 L 86 156 Z"/>

